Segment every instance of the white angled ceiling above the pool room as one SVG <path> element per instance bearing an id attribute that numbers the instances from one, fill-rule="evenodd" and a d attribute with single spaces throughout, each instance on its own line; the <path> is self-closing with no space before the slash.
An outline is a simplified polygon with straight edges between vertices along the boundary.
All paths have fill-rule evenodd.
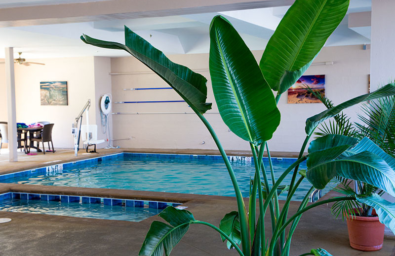
<path id="1" fill-rule="evenodd" d="M 0 0 L 0 9 L 76 2 L 80 0 Z M 280 6 L 137 19 L 106 17 L 105 20 L 80 23 L 5 26 L 0 28 L 0 48 L 14 47 L 15 54 L 23 52 L 22 57 L 26 59 L 127 56 L 124 51 L 96 48 L 79 39 L 85 33 L 103 40 L 123 42 L 123 26 L 126 25 L 166 54 L 207 53 L 211 19 L 221 14 L 233 23 L 251 50 L 262 50 L 287 8 Z M 349 13 L 369 11 L 371 0 L 351 0 Z M 326 46 L 369 44 L 369 37 L 370 27 L 353 25 L 349 28 L 347 15 Z M 3 50 L 0 51 L 0 58 L 4 58 Z"/>

